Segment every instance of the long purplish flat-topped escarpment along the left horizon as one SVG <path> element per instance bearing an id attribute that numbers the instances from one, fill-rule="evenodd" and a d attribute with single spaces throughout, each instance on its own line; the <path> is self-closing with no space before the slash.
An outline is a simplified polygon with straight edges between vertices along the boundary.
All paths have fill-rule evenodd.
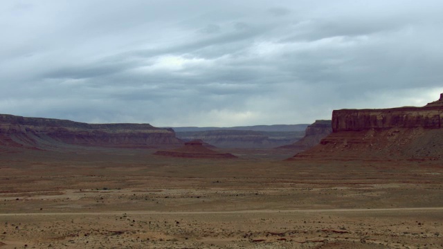
<path id="1" fill-rule="evenodd" d="M 64 145 L 159 147 L 182 145 L 172 129 L 150 124 L 87 124 L 0 114 L 0 146 L 51 149 Z"/>

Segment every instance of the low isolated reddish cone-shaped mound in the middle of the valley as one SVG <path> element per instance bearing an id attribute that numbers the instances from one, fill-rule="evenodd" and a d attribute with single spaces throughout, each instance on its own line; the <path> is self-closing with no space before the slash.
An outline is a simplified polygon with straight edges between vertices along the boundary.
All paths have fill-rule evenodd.
<path id="1" fill-rule="evenodd" d="M 234 156 L 233 154 L 219 153 L 217 151 L 209 149 L 208 147 L 204 146 L 204 142 L 202 140 L 193 140 L 190 142 L 186 142 L 185 146 L 174 150 L 156 151 L 154 155 L 180 158 L 237 158 L 237 156 Z"/>

